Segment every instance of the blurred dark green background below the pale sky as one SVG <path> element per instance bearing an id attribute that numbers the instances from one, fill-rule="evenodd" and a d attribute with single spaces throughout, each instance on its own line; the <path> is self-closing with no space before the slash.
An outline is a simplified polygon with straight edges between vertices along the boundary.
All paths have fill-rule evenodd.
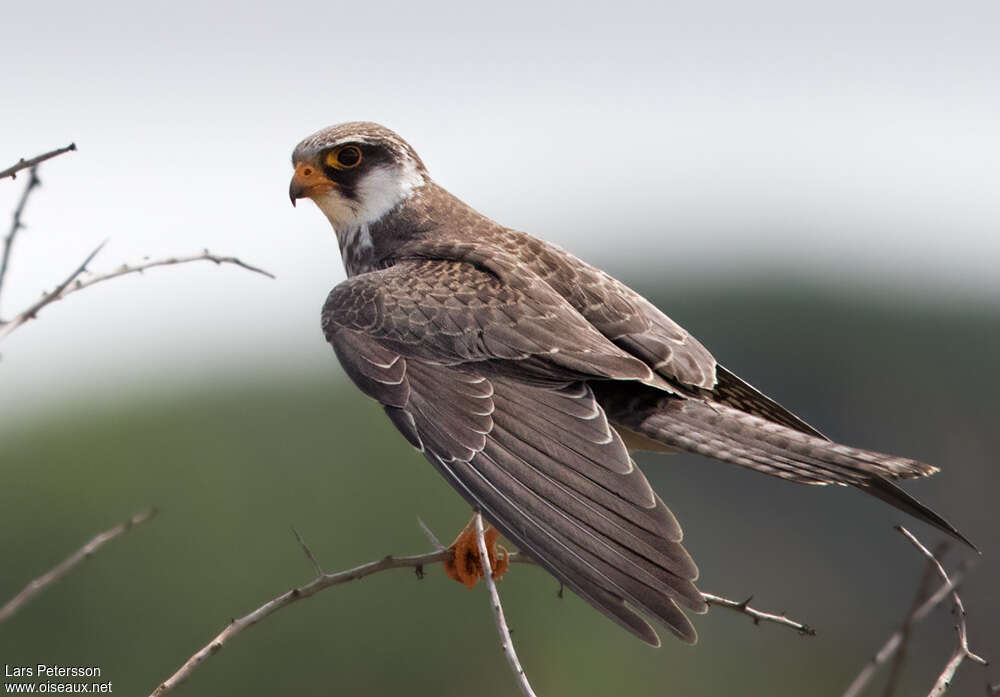
<path id="1" fill-rule="evenodd" d="M 973 648 L 1000 657 L 996 307 L 773 278 L 634 285 L 831 437 L 943 467 L 907 488 L 983 551 L 963 598 Z M 654 650 L 572 594 L 558 599 L 544 572 L 516 566 L 500 591 L 540 695 L 839 695 L 894 630 L 923 569 L 892 525 L 941 538 L 853 490 L 694 456 L 640 463 L 685 528 L 703 590 L 752 594 L 818 636 L 715 609 L 695 618 L 696 647 L 668 635 Z M 115 694 L 148 694 L 231 617 L 308 581 L 291 526 L 330 571 L 428 551 L 418 516 L 448 541 L 470 514 L 346 383 L 332 352 L 315 374 L 138 386 L 8 420 L 0 476 L 0 599 L 96 532 L 160 508 L 0 625 L 0 662 L 99 665 Z M 972 556 L 953 548 L 949 567 Z M 954 645 L 951 625 L 943 607 L 916 630 L 898 694 L 929 689 Z M 953 693 L 979 694 L 986 677 L 966 666 Z M 388 571 L 293 605 L 177 692 L 514 693 L 485 589 L 468 591 L 440 568 L 420 581 Z"/>

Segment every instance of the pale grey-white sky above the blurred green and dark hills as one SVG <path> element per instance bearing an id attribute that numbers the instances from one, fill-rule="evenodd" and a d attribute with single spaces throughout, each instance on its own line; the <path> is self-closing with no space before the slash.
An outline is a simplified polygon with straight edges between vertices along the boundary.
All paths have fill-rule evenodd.
<path id="1" fill-rule="evenodd" d="M 96 270 L 209 247 L 278 280 L 195 265 L 58 303 L 0 344 L 0 414 L 217 372 L 337 373 L 319 308 L 344 274 L 325 219 L 289 205 L 288 158 L 347 120 L 394 128 L 467 202 L 622 276 L 740 268 L 1000 298 L 995 1 L 3 16 L 0 168 L 80 150 L 42 167 L 0 312 L 105 238 Z M 0 181 L 3 215 L 23 181 Z"/>

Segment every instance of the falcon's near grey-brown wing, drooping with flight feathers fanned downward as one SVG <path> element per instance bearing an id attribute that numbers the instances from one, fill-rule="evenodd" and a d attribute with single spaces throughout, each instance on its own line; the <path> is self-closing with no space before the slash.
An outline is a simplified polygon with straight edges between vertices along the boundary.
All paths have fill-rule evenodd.
<path id="1" fill-rule="evenodd" d="M 366 278 L 370 277 L 370 278 Z M 471 505 L 567 587 L 650 644 L 704 612 L 677 521 L 586 378 L 648 367 L 561 298 L 469 265 L 420 262 L 334 289 L 324 330 L 348 375 Z"/>

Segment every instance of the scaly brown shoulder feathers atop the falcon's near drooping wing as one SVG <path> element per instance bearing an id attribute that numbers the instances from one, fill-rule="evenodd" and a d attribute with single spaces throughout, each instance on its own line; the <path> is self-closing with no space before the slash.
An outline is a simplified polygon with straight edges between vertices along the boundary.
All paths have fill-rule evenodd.
<path id="1" fill-rule="evenodd" d="M 491 361 L 518 374 L 519 361 L 541 357 L 556 381 L 654 377 L 551 288 L 513 288 L 468 262 L 407 261 L 344 281 L 323 306 L 323 331 L 332 341 L 345 329 L 444 365 Z"/>

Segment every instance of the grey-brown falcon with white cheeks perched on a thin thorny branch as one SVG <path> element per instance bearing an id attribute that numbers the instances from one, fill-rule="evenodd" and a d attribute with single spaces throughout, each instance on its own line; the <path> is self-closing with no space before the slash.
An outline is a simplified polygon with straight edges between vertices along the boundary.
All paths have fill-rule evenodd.
<path id="1" fill-rule="evenodd" d="M 492 526 L 643 641 L 659 645 L 646 616 L 693 643 L 681 608 L 707 606 L 631 450 L 852 485 L 964 540 L 893 483 L 936 467 L 830 441 L 624 283 L 445 191 L 389 129 L 321 130 L 292 164 L 292 203 L 326 215 L 346 267 L 322 324 L 348 376 Z"/>

